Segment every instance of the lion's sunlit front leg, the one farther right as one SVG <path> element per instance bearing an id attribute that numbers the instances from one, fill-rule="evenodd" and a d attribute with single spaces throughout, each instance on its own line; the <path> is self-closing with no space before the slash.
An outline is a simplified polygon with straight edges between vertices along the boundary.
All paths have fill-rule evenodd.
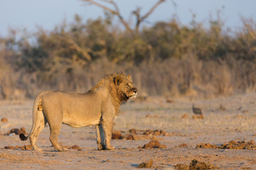
<path id="1" fill-rule="evenodd" d="M 114 149 L 114 147 L 110 144 L 112 138 L 113 122 L 104 122 L 102 127 L 105 133 L 105 147 L 103 149 Z"/>

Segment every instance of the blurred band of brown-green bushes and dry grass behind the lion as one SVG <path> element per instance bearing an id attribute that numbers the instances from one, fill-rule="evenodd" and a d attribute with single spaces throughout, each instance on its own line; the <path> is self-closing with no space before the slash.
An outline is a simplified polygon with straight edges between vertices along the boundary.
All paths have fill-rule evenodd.
<path id="1" fill-rule="evenodd" d="M 85 92 L 105 74 L 131 74 L 139 94 L 214 97 L 256 90 L 256 23 L 191 21 L 144 26 L 136 35 L 104 18 L 0 38 L 0 98 L 55 89 Z"/>

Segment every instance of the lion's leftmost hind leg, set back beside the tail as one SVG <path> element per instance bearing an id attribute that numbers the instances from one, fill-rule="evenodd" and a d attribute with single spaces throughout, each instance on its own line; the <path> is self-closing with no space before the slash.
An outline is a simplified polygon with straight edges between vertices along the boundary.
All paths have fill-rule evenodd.
<path id="1" fill-rule="evenodd" d="M 31 142 L 31 147 L 36 150 L 36 151 L 42 151 L 41 148 L 38 148 L 38 146 L 36 145 L 36 141 L 38 139 L 38 135 L 41 133 L 41 131 L 43 130 L 43 128 L 45 127 L 47 120 L 43 115 L 42 111 L 38 111 L 38 117 L 36 120 L 36 126 L 35 129 L 33 130 L 33 132 L 31 133 L 31 136 L 29 137 L 29 140 Z"/>

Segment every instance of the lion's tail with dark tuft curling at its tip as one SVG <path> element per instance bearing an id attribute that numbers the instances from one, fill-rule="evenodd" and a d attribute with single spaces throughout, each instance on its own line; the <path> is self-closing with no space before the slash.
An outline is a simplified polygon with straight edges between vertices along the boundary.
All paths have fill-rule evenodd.
<path id="1" fill-rule="evenodd" d="M 31 134 L 33 133 L 33 131 L 35 130 L 35 127 L 36 127 L 36 120 L 38 118 L 38 111 L 42 111 L 43 110 L 43 107 L 42 107 L 42 97 L 43 97 L 43 94 L 46 94 L 46 92 L 48 91 L 45 91 L 41 94 L 38 94 L 38 96 L 36 97 L 34 103 L 33 103 L 33 125 L 32 125 L 32 129 L 31 129 L 31 132 L 25 136 L 23 133 L 21 133 L 19 135 L 20 139 L 21 140 L 28 140 L 28 137 L 31 136 Z"/>

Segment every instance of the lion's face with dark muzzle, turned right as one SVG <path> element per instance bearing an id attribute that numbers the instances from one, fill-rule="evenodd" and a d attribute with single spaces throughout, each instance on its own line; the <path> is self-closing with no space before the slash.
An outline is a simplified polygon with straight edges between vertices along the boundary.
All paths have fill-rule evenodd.
<path id="1" fill-rule="evenodd" d="M 133 85 L 130 76 L 119 75 L 114 78 L 114 84 L 122 100 L 127 101 L 129 98 L 136 98 L 137 88 Z"/>

